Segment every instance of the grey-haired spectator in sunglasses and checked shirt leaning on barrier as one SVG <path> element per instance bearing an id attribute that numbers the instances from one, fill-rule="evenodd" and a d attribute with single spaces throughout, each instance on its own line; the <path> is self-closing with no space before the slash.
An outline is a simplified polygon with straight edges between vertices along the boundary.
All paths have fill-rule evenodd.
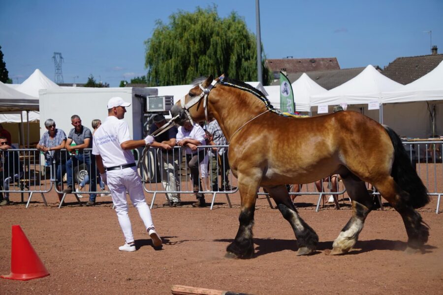
<path id="1" fill-rule="evenodd" d="M 66 134 L 62 129 L 56 128 L 56 123 L 53 119 L 47 119 L 45 127 L 47 131 L 40 138 L 37 149 L 44 152 L 46 165 L 54 168 L 53 173 L 55 173 L 56 187 L 58 191 L 61 191 L 62 179 L 66 170 L 66 151 L 62 152 L 61 149 L 66 144 Z M 62 201 L 63 194 L 58 193 L 58 196 L 59 201 Z"/>

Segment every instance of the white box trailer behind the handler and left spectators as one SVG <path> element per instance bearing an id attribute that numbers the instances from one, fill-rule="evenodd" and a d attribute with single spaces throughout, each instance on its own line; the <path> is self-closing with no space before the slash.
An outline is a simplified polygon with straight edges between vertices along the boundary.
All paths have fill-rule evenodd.
<path id="1" fill-rule="evenodd" d="M 71 125 L 71 116 L 78 115 L 82 119 L 82 125 L 93 131 L 91 122 L 94 119 L 104 121 L 108 116 L 106 105 L 114 96 L 120 96 L 126 102 L 131 103 L 127 107 L 125 120 L 129 125 L 129 132 L 133 139 L 144 137 L 144 106 L 145 99 L 135 97 L 135 94 L 144 96 L 157 95 L 157 89 L 146 88 L 72 88 L 72 89 L 41 89 L 39 90 L 40 106 L 40 137 L 46 131 L 45 120 L 48 118 L 56 122 L 56 127 L 62 129 L 66 136 Z"/>

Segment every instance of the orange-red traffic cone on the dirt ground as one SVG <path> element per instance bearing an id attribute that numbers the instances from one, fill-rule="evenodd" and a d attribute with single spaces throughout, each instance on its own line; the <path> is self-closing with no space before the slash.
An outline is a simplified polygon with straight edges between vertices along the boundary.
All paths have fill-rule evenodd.
<path id="1" fill-rule="evenodd" d="M 12 226 L 11 273 L 0 278 L 27 281 L 49 275 L 19 225 Z"/>

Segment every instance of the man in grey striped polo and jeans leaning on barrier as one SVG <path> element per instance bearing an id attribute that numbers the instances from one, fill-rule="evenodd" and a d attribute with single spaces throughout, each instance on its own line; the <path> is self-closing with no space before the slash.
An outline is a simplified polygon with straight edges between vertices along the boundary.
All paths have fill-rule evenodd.
<path id="1" fill-rule="evenodd" d="M 94 155 L 91 154 L 89 150 L 84 150 L 85 148 L 92 148 L 92 133 L 91 130 L 82 125 L 82 120 L 78 115 L 73 115 L 71 117 L 71 124 L 74 126 L 69 131 L 69 135 L 66 140 L 65 148 L 71 152 L 71 158 L 66 161 L 66 182 L 67 188 L 64 189 L 63 193 L 72 193 L 74 183 L 72 179 L 73 174 L 73 166 L 79 166 L 80 164 L 86 164 L 88 174 L 91 175 L 91 186 L 90 190 L 96 190 L 96 177 L 95 177 L 95 158 Z M 71 146 L 71 143 L 74 142 L 75 146 Z M 78 152 L 75 154 L 75 152 Z M 94 206 L 95 205 L 95 197 L 96 194 L 90 194 L 89 202 L 86 203 L 86 206 Z"/>

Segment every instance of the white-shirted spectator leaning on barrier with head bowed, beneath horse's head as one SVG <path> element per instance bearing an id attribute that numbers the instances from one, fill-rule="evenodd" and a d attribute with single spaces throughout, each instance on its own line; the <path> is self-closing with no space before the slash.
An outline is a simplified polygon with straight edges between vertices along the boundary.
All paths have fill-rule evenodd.
<path id="1" fill-rule="evenodd" d="M 178 128 L 177 144 L 180 147 L 186 147 L 186 163 L 191 172 L 192 189 L 197 198 L 197 202 L 192 204 L 192 207 L 205 207 L 205 196 L 200 193 L 201 181 L 198 173 L 198 164 L 201 163 L 205 157 L 203 150 L 198 150 L 197 146 L 205 145 L 205 131 L 200 125 L 194 123 L 192 125 L 190 121 L 185 121 L 183 126 Z"/>

